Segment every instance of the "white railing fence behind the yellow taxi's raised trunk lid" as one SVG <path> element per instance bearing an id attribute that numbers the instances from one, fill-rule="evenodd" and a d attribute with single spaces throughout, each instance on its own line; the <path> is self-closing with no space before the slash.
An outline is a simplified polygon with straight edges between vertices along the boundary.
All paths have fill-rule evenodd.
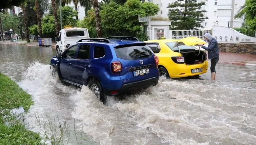
<path id="1" fill-rule="evenodd" d="M 182 39 L 186 37 L 198 37 L 204 40 L 204 34 L 212 34 L 212 30 L 170 30 L 170 39 Z"/>

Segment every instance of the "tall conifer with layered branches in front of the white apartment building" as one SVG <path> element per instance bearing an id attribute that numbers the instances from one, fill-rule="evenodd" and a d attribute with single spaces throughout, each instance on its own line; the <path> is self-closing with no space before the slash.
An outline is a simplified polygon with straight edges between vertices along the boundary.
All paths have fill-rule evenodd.
<path id="1" fill-rule="evenodd" d="M 203 17 L 205 10 L 200 10 L 205 2 L 197 3 L 196 0 L 177 0 L 168 5 L 169 19 L 172 21 L 173 30 L 190 30 L 203 28 L 201 23 L 207 17 Z"/>

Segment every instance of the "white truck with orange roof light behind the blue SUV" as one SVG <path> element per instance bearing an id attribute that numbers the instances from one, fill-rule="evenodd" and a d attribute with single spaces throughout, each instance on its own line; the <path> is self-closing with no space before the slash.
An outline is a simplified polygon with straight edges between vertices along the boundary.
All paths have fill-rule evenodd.
<path id="1" fill-rule="evenodd" d="M 68 27 L 62 29 L 58 37 L 55 37 L 55 41 L 57 42 L 55 46 L 57 54 L 62 54 L 69 46 L 85 38 L 90 38 L 88 29 L 86 28 Z"/>

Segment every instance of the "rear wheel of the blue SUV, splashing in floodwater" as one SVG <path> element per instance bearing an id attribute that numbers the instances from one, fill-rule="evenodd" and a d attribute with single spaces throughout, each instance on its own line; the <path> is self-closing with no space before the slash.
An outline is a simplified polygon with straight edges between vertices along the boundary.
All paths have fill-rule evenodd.
<path id="1" fill-rule="evenodd" d="M 91 80 L 89 83 L 89 88 L 96 95 L 97 99 L 99 99 L 105 105 L 107 103 L 107 97 L 103 92 L 103 89 L 98 80 Z"/>

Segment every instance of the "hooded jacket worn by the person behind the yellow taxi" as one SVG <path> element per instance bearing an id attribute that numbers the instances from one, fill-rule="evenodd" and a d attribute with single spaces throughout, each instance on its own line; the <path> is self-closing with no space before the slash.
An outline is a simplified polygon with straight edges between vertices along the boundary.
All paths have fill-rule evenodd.
<path id="1" fill-rule="evenodd" d="M 202 46 L 203 49 L 208 51 L 208 59 L 219 57 L 219 47 L 217 40 L 213 38 L 210 33 L 206 33 L 204 37 L 209 40 L 208 47 Z"/>

